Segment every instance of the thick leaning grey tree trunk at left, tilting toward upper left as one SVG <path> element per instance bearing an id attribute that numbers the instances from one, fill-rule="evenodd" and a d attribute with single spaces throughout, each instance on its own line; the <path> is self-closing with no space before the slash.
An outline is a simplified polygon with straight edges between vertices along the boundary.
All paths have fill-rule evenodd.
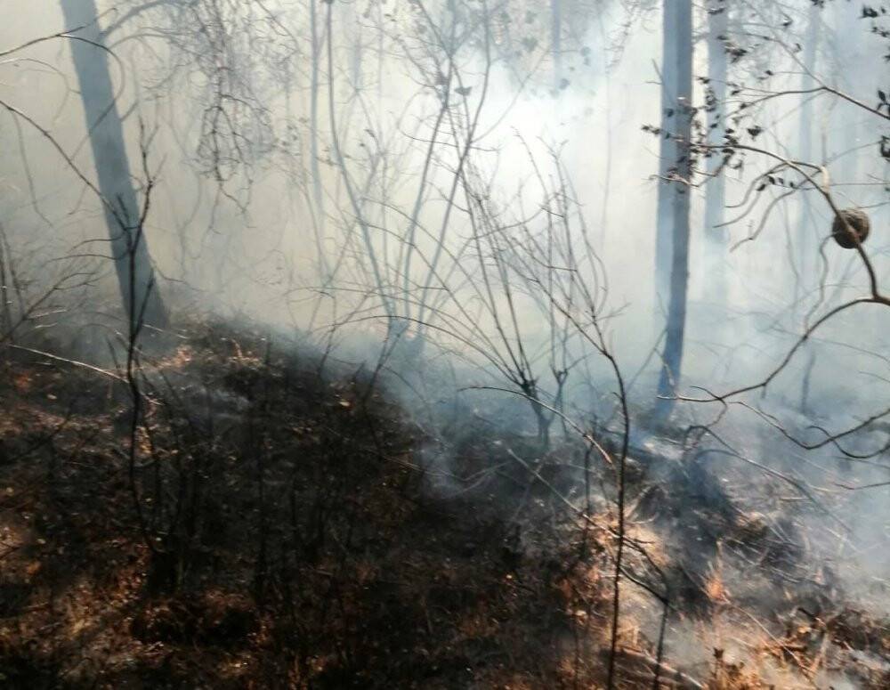
<path id="1" fill-rule="evenodd" d="M 77 38 L 69 41 L 71 57 L 125 310 L 131 327 L 142 321 L 161 328 L 166 326 L 166 309 L 155 282 L 148 242 L 142 234 L 142 208 L 130 177 L 124 127 L 117 112 L 96 4 L 94 0 L 61 0 L 61 10 L 66 26 L 79 28 Z"/>

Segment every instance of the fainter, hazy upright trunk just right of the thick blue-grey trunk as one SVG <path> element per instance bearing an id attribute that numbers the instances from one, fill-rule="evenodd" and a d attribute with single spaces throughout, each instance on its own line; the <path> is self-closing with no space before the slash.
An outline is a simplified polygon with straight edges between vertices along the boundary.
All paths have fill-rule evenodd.
<path id="1" fill-rule="evenodd" d="M 710 0 L 708 3 L 708 86 L 714 95 L 714 103 L 708 110 L 708 142 L 719 145 L 725 130 L 727 58 L 725 40 L 729 29 L 729 7 L 726 0 Z M 715 153 L 708 158 L 708 179 L 705 199 L 705 270 L 708 292 L 716 305 L 726 304 L 726 270 L 724 260 L 728 250 L 729 235 L 724 222 L 726 205 L 726 181 L 721 174 L 723 155 Z"/>

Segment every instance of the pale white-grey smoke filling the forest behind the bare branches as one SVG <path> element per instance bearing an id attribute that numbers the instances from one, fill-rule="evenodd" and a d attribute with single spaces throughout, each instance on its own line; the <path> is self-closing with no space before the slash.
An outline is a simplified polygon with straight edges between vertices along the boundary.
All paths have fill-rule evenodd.
<path id="1" fill-rule="evenodd" d="M 595 259 L 579 261 L 578 270 L 610 314 L 604 341 L 630 384 L 635 442 L 646 442 L 665 311 L 652 279 L 658 139 L 641 131 L 660 119 L 658 12 L 628 24 L 620 4 L 578 3 L 584 12 L 566 17 L 557 69 L 541 10 L 505 19 L 453 2 L 426 4 L 424 12 L 417 4 L 313 4 L 314 28 L 305 3 L 282 0 L 265 3 L 271 14 L 239 15 L 243 36 L 192 34 L 176 25 L 182 14 L 163 7 L 109 36 L 131 172 L 147 190 L 144 144 L 154 183 L 146 234 L 174 310 L 260 323 L 340 361 L 379 366 L 429 433 L 418 460 L 435 489 L 448 493 L 462 486 L 452 461 L 460 442 L 486 428 L 535 434 L 521 377 L 505 377 L 517 359 L 527 358 L 522 373 L 548 406 L 581 425 L 615 421 L 609 362 L 554 312 L 552 296 L 538 289 L 544 281 L 532 280 L 545 275 L 536 271 L 547 260 L 557 264 L 589 247 Z M 805 40 L 809 3 L 799 5 L 783 44 Z M 334 13 L 330 34 L 327 12 Z M 753 19 L 741 12 L 740 20 L 756 23 L 764 12 Z M 751 59 L 732 68 L 731 93 L 743 81 L 764 93 L 795 90 L 813 71 L 871 103 L 879 38 L 855 12 L 836 3 L 819 15 L 814 65 L 781 50 L 772 29 L 773 40 L 740 30 Z M 57 3 L 31 3 L 4 22 L 0 45 L 61 28 Z M 845 40 L 850 32 L 859 38 Z M 697 46 L 697 75 L 707 74 L 707 59 Z M 0 97 L 51 131 L 89 173 L 66 39 L 14 53 L 2 69 Z M 706 86 L 697 83 L 697 103 Z M 215 129 L 210 96 L 225 120 Z M 808 146 L 802 112 L 812 113 Z M 757 145 L 781 156 L 813 150 L 838 201 L 868 210 L 868 248 L 883 279 L 886 161 L 874 155 L 873 120 L 826 94 L 767 101 L 753 118 L 736 126 L 761 128 Z M 0 135 L 11 152 L 0 163 L 3 227 L 28 289 L 39 294 L 62 272 L 89 272 L 77 283 L 78 298 L 112 311 L 109 262 L 97 256 L 108 246 L 98 199 L 28 123 L 4 118 Z M 875 454 L 886 427 L 823 443 L 882 409 L 886 313 L 863 304 L 839 314 L 783 365 L 818 314 L 867 292 L 868 275 L 855 253 L 830 241 L 830 209 L 813 191 L 772 206 L 786 190 L 776 181 L 750 196 L 757 175 L 773 165 L 751 153 L 744 166 L 724 171 L 732 251 L 717 266 L 704 258 L 708 184 L 690 190 L 681 389 L 707 397 L 702 390 L 769 384 L 740 396 L 744 405 L 681 405 L 678 418 L 707 424 L 716 447 L 737 451 L 709 460 L 708 472 L 744 477 L 746 491 L 732 495 L 753 497 L 746 509 L 760 509 L 756 491 L 765 482 L 787 493 L 789 504 L 809 502 L 796 514 L 808 562 L 826 564 L 846 590 L 890 615 L 882 589 L 888 489 L 858 488 L 887 481 L 886 453 Z M 551 223 L 564 231 L 554 256 L 523 255 L 520 242 L 545 237 Z M 725 301 L 714 294 L 715 271 L 727 282 Z M 568 280 L 569 272 L 558 275 Z M 564 304 L 570 293 L 555 294 Z M 553 372 L 563 366 L 561 393 Z M 552 433 L 560 427 L 554 417 Z M 680 631 L 672 639 L 676 649 L 683 645 Z"/>

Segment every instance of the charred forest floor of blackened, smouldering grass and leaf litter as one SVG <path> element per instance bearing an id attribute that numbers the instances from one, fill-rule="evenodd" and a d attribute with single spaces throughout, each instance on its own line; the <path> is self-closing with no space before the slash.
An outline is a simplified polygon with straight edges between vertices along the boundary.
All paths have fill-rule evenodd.
<path id="1" fill-rule="evenodd" d="M 135 388 L 119 361 L 96 370 L 45 356 L 87 359 L 45 337 L 4 349 L 0 686 L 604 686 L 614 467 L 586 483 L 577 442 L 542 453 L 469 414 L 437 462 L 443 439 L 373 366 L 249 326 L 182 333 L 147 341 Z M 661 611 L 651 593 L 670 598 L 672 624 L 725 615 L 714 565 L 732 551 L 742 572 L 757 560 L 763 580 L 736 603 L 765 620 L 790 612 L 773 615 L 763 645 L 777 663 L 808 668 L 825 639 L 890 654 L 884 621 L 837 593 L 797 586 L 788 598 L 786 580 L 806 567 L 793 522 L 776 532 L 704 462 L 638 449 L 627 477 L 616 687 L 652 686 L 657 640 L 634 619 Z M 584 505 L 585 486 L 589 522 L 566 501 Z M 668 669 L 661 686 L 770 687 L 715 659 L 684 666 L 698 683 Z"/>

